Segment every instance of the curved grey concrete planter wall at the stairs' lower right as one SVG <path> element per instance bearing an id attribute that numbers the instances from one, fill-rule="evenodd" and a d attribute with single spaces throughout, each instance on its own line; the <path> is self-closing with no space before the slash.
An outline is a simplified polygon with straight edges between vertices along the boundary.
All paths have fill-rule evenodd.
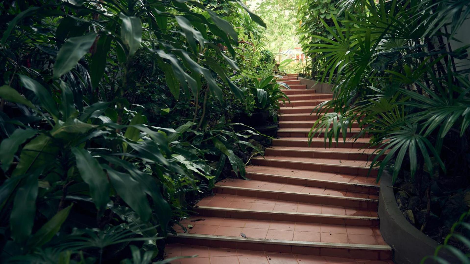
<path id="1" fill-rule="evenodd" d="M 392 177 L 383 173 L 379 193 L 380 232 L 393 248 L 396 264 L 417 264 L 424 256 L 433 255 L 438 243 L 411 225 L 398 208 Z M 454 256 L 440 251 L 439 256 L 450 263 L 460 263 Z"/>

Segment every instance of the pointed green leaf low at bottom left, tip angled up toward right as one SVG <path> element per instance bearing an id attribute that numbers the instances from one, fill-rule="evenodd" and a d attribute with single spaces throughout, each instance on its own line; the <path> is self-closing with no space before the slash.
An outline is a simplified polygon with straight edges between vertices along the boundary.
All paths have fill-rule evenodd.
<path id="1" fill-rule="evenodd" d="M 36 232 L 29 240 L 28 245 L 30 248 L 36 248 L 44 245 L 48 241 L 50 241 L 57 232 L 59 232 L 60 227 L 62 226 L 63 222 L 69 216 L 70 210 L 72 205 L 67 206 L 66 208 L 62 209 L 61 211 L 57 212 L 55 216 L 53 216 L 46 224 L 39 228 L 38 232 Z"/>

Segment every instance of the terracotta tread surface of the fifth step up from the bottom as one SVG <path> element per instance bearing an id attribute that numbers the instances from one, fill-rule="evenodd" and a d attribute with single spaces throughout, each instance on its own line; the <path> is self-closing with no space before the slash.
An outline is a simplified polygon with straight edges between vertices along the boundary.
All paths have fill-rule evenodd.
<path id="1" fill-rule="evenodd" d="M 356 168 L 369 168 L 370 161 L 366 160 L 341 160 L 335 158 L 301 158 L 301 157 L 289 157 L 289 156 L 264 156 L 264 157 L 254 157 L 252 159 L 266 159 L 266 160 L 279 160 L 279 161 L 289 161 L 289 162 L 298 162 L 298 163 L 312 163 L 312 164 L 322 164 L 327 166 L 347 166 L 347 167 L 356 167 Z"/>

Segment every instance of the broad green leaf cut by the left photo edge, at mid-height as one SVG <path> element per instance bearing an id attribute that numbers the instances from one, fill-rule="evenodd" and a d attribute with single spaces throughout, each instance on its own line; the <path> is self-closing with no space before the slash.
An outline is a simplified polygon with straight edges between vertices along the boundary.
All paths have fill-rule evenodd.
<path id="1" fill-rule="evenodd" d="M 13 132 L 13 134 L 4 139 L 0 143 L 0 161 L 1 168 L 4 171 L 7 171 L 10 167 L 11 162 L 13 161 L 13 155 L 15 155 L 18 147 L 26 142 L 29 138 L 36 135 L 37 130 L 31 128 L 18 128 Z"/>

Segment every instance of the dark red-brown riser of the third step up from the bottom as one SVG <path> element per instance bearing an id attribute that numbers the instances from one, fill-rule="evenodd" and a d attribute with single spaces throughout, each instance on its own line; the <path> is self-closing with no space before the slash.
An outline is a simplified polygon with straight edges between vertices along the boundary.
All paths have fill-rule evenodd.
<path id="1" fill-rule="evenodd" d="M 212 189 L 215 193 L 230 194 L 238 196 L 251 196 L 265 199 L 277 199 L 282 201 L 301 202 L 301 203 L 314 203 L 314 204 L 327 204 L 334 206 L 345 206 L 353 208 L 364 209 L 377 209 L 376 201 L 369 200 L 353 200 L 348 198 L 333 198 L 329 196 L 314 196 L 309 194 L 287 193 L 277 191 L 266 191 L 261 189 L 237 189 L 226 188 L 216 185 Z"/>

